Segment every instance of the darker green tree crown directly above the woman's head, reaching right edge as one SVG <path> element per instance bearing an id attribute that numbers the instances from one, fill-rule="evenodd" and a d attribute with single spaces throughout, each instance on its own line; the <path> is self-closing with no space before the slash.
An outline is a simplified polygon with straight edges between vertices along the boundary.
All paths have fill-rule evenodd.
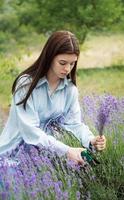
<path id="1" fill-rule="evenodd" d="M 68 29 L 75 32 L 81 42 L 88 30 L 102 30 L 121 20 L 124 9 L 120 0 L 76 0 L 75 3 L 63 0 L 61 4 L 58 0 L 37 0 L 37 3 L 39 25 L 44 31 Z"/>

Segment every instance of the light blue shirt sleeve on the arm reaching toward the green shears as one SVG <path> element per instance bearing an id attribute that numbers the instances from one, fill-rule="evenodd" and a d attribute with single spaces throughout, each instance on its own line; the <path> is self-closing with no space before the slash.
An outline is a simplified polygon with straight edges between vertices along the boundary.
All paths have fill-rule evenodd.
<path id="1" fill-rule="evenodd" d="M 23 104 L 16 105 L 26 94 L 25 87 L 18 89 L 13 96 L 13 103 L 15 106 L 18 129 L 23 140 L 28 144 L 43 145 L 53 151 L 59 152 L 60 155 L 65 154 L 68 151 L 69 146 L 56 140 L 53 136 L 47 135 L 40 128 L 40 120 L 38 112 L 34 107 L 33 95 L 27 100 L 26 110 L 23 108 Z"/>

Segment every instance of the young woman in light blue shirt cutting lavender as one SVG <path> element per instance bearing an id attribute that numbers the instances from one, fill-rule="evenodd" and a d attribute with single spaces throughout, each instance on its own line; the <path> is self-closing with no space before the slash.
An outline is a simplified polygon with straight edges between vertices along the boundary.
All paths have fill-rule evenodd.
<path id="1" fill-rule="evenodd" d="M 27 144 L 50 148 L 76 164 L 84 164 L 84 147 L 105 149 L 105 137 L 95 137 L 81 122 L 76 87 L 78 57 L 75 35 L 57 31 L 35 63 L 19 74 L 12 87 L 9 118 L 0 136 L 0 155 L 11 155 L 14 150 L 17 153 L 20 144 Z M 74 135 L 82 148 L 63 143 L 61 132 L 55 131 L 57 126 Z"/>

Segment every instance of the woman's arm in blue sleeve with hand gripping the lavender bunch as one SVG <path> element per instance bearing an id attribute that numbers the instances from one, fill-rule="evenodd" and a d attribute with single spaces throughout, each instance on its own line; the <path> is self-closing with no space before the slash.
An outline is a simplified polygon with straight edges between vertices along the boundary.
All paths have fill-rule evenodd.
<path id="1" fill-rule="evenodd" d="M 89 127 L 81 120 L 81 109 L 78 100 L 78 90 L 75 86 L 72 87 L 71 95 L 73 95 L 67 116 L 65 128 L 71 131 L 78 140 L 81 141 L 84 147 L 89 148 L 93 145 L 97 150 L 103 150 L 106 147 L 106 138 L 94 136 Z"/>

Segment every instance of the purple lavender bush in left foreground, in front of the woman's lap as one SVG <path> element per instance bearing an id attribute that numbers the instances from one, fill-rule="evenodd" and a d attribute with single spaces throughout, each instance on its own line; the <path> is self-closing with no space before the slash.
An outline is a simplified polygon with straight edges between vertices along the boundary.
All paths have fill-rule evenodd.
<path id="1" fill-rule="evenodd" d="M 1 158 L 0 199 L 76 199 L 80 189 L 80 196 L 87 195 L 83 169 L 81 172 L 79 166 L 64 157 L 48 149 L 22 145 L 17 158 L 19 162 L 11 165 Z"/>

